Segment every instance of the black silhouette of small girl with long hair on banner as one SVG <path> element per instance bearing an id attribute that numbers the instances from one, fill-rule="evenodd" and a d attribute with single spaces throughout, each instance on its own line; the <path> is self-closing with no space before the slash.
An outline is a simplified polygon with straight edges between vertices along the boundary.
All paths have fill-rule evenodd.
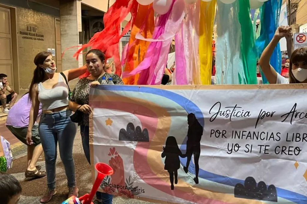
<path id="1" fill-rule="evenodd" d="M 171 189 L 174 190 L 174 176 L 175 176 L 175 184 L 178 183 L 178 169 L 180 169 L 180 157 L 185 157 L 180 151 L 176 138 L 173 136 L 169 136 L 166 139 L 165 147 L 163 147 L 163 152 L 161 157 L 165 158 L 165 166 L 164 169 L 169 172 L 169 180 L 171 182 Z"/>

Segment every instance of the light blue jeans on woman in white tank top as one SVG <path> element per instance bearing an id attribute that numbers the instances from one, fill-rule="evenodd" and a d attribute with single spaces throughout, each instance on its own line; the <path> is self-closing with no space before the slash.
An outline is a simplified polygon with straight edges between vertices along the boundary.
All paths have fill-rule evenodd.
<path id="1" fill-rule="evenodd" d="M 39 135 L 45 154 L 47 185 L 49 190 L 56 187 L 56 157 L 59 142 L 60 157 L 67 176 L 68 187 L 76 186 L 75 162 L 72 148 L 76 136 L 76 124 L 70 120 L 70 110 L 52 114 L 42 114 L 39 125 Z"/>

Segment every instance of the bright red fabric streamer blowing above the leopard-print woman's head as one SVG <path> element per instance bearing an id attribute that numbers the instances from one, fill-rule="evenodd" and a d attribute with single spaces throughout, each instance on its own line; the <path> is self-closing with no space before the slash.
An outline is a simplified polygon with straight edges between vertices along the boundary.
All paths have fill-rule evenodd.
<path id="1" fill-rule="evenodd" d="M 119 56 L 119 40 L 131 27 L 137 14 L 138 2 L 136 0 L 116 0 L 103 17 L 104 29 L 95 33 L 91 40 L 82 46 L 74 55 L 78 59 L 79 54 L 87 47 L 99 49 L 106 54 L 107 58 L 114 57 L 116 74 L 121 76 L 122 67 Z M 131 13 L 131 19 L 125 28 L 121 29 L 121 23 Z M 88 75 L 87 72 L 85 74 Z"/>

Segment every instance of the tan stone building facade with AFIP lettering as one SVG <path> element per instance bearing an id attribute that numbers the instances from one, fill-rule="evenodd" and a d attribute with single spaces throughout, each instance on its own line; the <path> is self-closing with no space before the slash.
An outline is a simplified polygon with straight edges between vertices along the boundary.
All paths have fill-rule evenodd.
<path id="1" fill-rule="evenodd" d="M 29 90 L 33 59 L 41 51 L 52 52 L 58 72 L 83 66 L 83 56 L 76 60 L 73 54 L 104 28 L 103 14 L 114 2 L 0 0 L 0 73 L 6 73 L 14 90 L 23 94 Z"/>

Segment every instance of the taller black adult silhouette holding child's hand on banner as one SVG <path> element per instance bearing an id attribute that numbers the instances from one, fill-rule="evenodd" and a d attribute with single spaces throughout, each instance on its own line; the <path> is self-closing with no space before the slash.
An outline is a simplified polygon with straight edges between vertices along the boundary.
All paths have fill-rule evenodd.
<path id="1" fill-rule="evenodd" d="M 203 126 L 197 121 L 195 115 L 193 113 L 188 114 L 188 140 L 187 140 L 187 151 L 185 155 L 187 158 L 186 167 L 183 167 L 186 173 L 188 173 L 188 167 L 192 158 L 192 154 L 194 155 L 194 163 L 195 163 L 195 174 L 196 177 L 194 181 L 198 184 L 198 172 L 199 172 L 199 164 L 198 160 L 200 157 L 200 140 L 203 135 Z"/>

